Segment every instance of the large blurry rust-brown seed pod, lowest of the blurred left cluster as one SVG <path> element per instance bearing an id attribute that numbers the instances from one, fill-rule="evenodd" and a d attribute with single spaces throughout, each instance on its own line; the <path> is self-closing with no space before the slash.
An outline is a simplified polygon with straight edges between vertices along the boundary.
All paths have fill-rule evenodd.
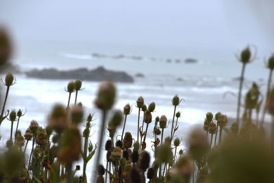
<path id="1" fill-rule="evenodd" d="M 76 127 L 66 129 L 60 139 L 58 159 L 62 164 L 71 164 L 73 161 L 79 159 L 81 147 L 79 130 Z"/>

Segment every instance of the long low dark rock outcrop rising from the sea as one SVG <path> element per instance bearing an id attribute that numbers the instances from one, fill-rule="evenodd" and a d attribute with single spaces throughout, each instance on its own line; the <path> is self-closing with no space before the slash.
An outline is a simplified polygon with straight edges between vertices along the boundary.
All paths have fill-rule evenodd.
<path id="1" fill-rule="evenodd" d="M 88 70 L 86 68 L 73 69 L 70 71 L 58 71 L 57 69 L 33 69 L 26 72 L 27 77 L 36 77 L 49 80 L 86 80 L 101 82 L 110 80 L 112 82 L 134 82 L 132 76 L 123 71 L 109 71 L 99 66 L 97 69 Z"/>

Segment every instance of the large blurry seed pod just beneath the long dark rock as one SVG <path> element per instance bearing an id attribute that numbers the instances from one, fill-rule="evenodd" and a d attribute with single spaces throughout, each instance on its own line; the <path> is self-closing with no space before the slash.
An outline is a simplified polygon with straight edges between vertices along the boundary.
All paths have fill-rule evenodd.
<path id="1" fill-rule="evenodd" d="M 95 105 L 101 110 L 112 108 L 115 100 L 116 88 L 111 82 L 102 82 L 99 86 Z"/>

